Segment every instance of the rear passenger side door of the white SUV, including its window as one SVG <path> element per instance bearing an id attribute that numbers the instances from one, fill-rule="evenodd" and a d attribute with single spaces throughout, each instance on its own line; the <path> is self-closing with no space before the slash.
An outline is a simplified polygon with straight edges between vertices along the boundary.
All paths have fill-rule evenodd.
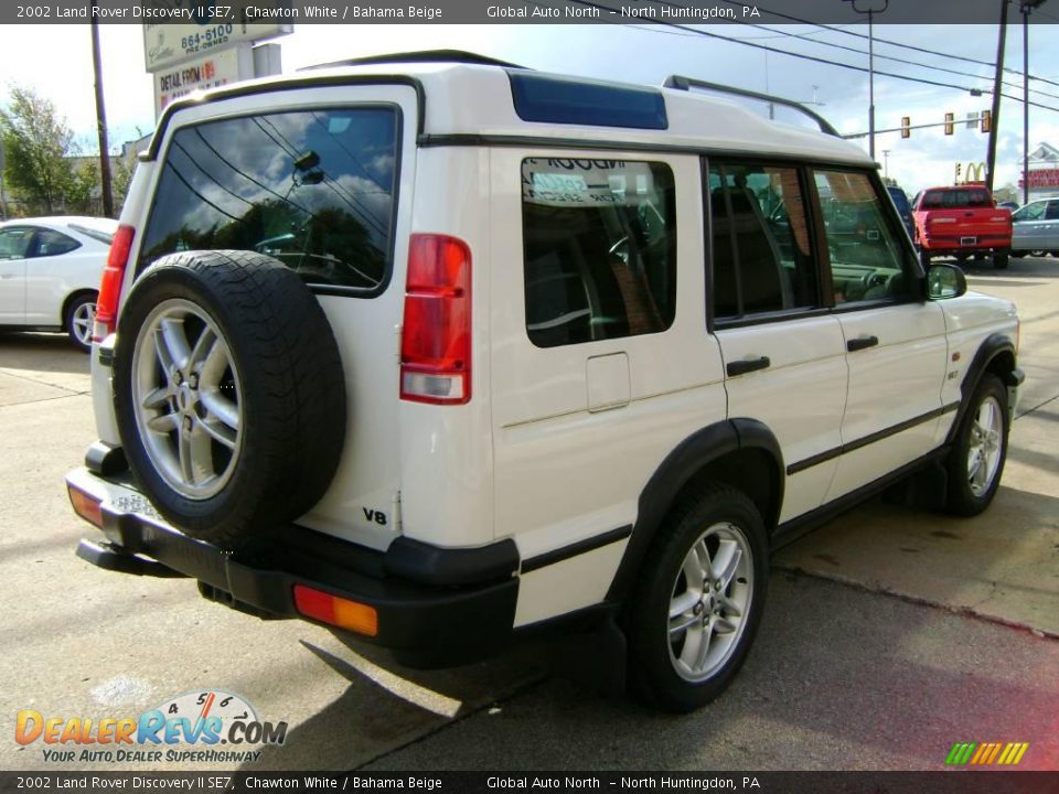
<path id="1" fill-rule="evenodd" d="M 826 307 L 804 171 L 710 160 L 713 326 L 728 416 L 764 423 L 787 466 L 780 522 L 819 507 L 846 403 L 842 328 Z"/>

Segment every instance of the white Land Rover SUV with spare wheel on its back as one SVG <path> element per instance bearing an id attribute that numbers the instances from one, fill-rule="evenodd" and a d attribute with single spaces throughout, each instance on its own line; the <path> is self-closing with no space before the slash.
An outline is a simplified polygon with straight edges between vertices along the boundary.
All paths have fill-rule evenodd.
<path id="1" fill-rule="evenodd" d="M 924 468 L 992 501 L 1018 323 L 965 292 L 859 149 L 694 81 L 220 89 L 167 109 L 111 248 L 79 554 L 417 664 L 595 621 L 694 708 L 778 543 Z"/>

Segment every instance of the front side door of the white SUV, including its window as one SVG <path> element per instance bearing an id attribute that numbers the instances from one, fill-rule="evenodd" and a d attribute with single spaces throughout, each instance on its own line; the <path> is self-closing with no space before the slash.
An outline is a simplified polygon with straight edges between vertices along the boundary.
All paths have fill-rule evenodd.
<path id="1" fill-rule="evenodd" d="M 821 168 L 812 187 L 825 219 L 855 218 L 857 228 L 849 235 L 834 222 L 824 226 L 824 276 L 849 369 L 831 501 L 929 451 L 941 421 L 948 345 L 941 307 L 918 296 L 918 265 L 878 179 Z"/>

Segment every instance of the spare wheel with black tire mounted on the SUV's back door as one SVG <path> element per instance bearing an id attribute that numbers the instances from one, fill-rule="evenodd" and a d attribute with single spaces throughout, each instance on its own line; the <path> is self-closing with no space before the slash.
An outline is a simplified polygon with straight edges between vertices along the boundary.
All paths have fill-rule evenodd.
<path id="1" fill-rule="evenodd" d="M 226 548 L 323 495 L 345 439 L 345 380 L 320 304 L 282 264 L 188 251 L 137 279 L 119 320 L 114 407 L 158 511 Z"/>

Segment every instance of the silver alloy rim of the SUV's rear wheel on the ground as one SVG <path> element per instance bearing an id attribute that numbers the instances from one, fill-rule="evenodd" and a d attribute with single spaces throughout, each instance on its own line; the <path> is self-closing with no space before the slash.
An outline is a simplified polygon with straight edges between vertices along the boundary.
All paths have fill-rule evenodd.
<path id="1" fill-rule="evenodd" d="M 731 658 L 753 598 L 753 555 L 735 524 L 714 524 L 688 550 L 670 599 L 670 662 L 693 683 Z"/>

